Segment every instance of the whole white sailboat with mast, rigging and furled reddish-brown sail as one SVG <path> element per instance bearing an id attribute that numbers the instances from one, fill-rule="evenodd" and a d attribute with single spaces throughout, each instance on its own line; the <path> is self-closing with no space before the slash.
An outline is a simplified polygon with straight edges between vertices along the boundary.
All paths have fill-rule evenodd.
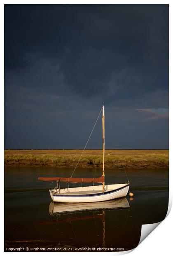
<path id="1" fill-rule="evenodd" d="M 49 190 L 52 201 L 61 202 L 61 203 L 86 203 L 86 202 L 89 203 L 89 202 L 108 201 L 111 199 L 126 197 L 128 191 L 129 191 L 129 180 L 128 180 L 128 183 L 123 183 L 123 184 L 111 184 L 111 185 L 105 184 L 105 109 L 104 109 L 104 105 L 103 105 L 101 111 L 103 113 L 103 115 L 102 115 L 102 129 L 103 129 L 103 173 L 102 173 L 102 176 L 99 178 L 72 178 L 72 175 L 75 171 L 74 170 L 71 177 L 69 177 L 69 178 L 39 177 L 38 180 L 49 181 L 49 182 L 56 181 L 57 182 L 57 186 L 53 190 Z M 95 123 L 95 125 L 96 125 L 96 123 Z M 95 127 L 95 125 L 94 125 L 94 127 Z M 93 128 L 93 130 L 94 130 L 94 128 Z M 86 143 L 86 145 L 87 145 L 87 143 Z M 78 163 L 79 163 L 79 161 L 78 161 Z M 76 167 L 75 167 L 75 169 L 76 169 Z M 68 186 L 68 188 L 61 189 L 60 182 L 66 182 L 66 183 L 68 183 L 68 185 L 69 185 L 69 183 L 82 183 L 82 185 L 83 185 L 83 183 L 93 182 L 93 186 L 88 186 L 88 187 L 81 186 L 81 187 L 71 187 L 71 188 L 69 188 L 69 186 Z M 102 185 L 94 185 L 94 183 L 102 183 Z"/>

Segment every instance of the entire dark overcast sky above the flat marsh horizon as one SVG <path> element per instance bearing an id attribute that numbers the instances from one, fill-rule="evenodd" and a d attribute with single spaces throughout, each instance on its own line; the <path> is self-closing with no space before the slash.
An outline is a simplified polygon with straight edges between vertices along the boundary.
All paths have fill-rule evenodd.
<path id="1" fill-rule="evenodd" d="M 103 102 L 105 148 L 168 148 L 168 5 L 5 5 L 5 148 L 84 148 Z"/>

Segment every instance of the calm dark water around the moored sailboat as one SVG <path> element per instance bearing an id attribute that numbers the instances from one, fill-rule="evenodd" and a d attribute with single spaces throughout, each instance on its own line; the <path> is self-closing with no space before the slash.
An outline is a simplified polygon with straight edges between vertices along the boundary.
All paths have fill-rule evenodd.
<path id="1" fill-rule="evenodd" d="M 163 220 L 168 209 L 168 170 L 126 170 L 134 193 L 129 208 L 82 210 L 57 213 L 48 189 L 56 183 L 37 180 L 39 176 L 66 176 L 72 169 L 5 169 L 5 248 L 19 247 L 114 247 L 129 250 L 138 245 L 142 224 Z M 79 169 L 73 177 L 99 177 L 98 169 Z M 106 184 L 126 183 L 124 170 L 106 170 Z M 92 184 L 88 184 L 92 185 Z M 61 187 L 67 186 L 61 183 Z M 79 186 L 70 184 L 70 187 Z M 50 206 L 50 213 L 49 213 Z M 67 205 L 70 211 L 70 204 Z M 80 206 L 78 206 L 80 208 Z"/>

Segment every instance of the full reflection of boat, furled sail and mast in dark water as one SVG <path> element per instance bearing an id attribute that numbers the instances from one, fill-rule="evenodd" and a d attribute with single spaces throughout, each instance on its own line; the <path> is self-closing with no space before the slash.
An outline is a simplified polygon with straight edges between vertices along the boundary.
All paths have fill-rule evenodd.
<path id="1" fill-rule="evenodd" d="M 51 202 L 49 213 L 56 217 L 49 223 L 58 225 L 56 237 L 60 239 L 59 242 L 64 242 L 62 241 L 65 239 L 63 232 L 68 229 L 65 235 L 68 234 L 68 239 L 74 246 L 115 247 L 115 244 L 123 243 L 122 237 L 125 235 L 129 215 L 129 202 L 126 198 L 95 203 Z M 112 226 L 111 229 L 110 226 Z M 112 236 L 110 236 L 110 230 L 113 231 Z"/>

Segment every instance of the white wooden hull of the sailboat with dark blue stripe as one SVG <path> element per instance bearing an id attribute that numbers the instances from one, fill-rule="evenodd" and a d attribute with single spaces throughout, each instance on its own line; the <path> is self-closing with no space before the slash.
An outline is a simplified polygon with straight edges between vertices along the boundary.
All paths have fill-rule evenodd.
<path id="1" fill-rule="evenodd" d="M 62 203 L 89 203 L 100 202 L 126 197 L 129 190 L 129 184 L 114 184 L 105 185 L 105 192 L 103 193 L 103 186 L 90 187 L 75 187 L 60 190 L 49 190 L 51 199 L 54 202 Z"/>

